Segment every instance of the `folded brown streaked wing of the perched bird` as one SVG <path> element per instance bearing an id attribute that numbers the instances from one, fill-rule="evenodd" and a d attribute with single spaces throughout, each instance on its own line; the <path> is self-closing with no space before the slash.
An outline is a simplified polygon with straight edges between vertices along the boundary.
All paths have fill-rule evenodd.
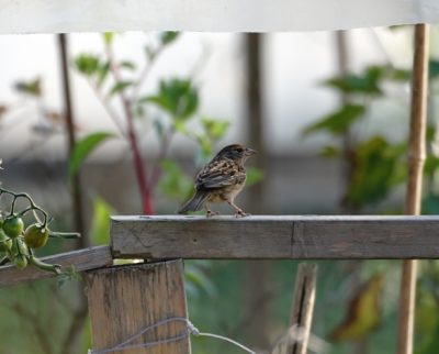
<path id="1" fill-rule="evenodd" d="M 246 173 L 237 163 L 229 159 L 214 161 L 205 166 L 196 176 L 195 187 L 215 189 L 241 184 Z"/>

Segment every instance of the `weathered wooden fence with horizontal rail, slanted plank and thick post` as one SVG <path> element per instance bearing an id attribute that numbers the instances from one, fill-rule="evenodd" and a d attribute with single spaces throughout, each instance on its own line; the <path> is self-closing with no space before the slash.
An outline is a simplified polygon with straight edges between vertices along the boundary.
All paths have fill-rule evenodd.
<path id="1" fill-rule="evenodd" d="M 145 263 L 113 266 L 114 258 Z M 439 217 L 114 217 L 109 246 L 45 261 L 85 272 L 92 353 L 187 354 L 185 258 L 439 258 Z M 47 276 L 3 266 L 0 286 Z M 157 325 L 166 319 L 177 320 Z M 114 347 L 142 329 L 137 347 Z"/>

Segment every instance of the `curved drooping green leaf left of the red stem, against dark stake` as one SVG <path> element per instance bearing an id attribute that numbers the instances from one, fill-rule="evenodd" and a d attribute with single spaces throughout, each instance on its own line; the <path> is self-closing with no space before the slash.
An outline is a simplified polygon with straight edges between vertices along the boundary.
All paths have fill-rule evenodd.
<path id="1" fill-rule="evenodd" d="M 72 178 L 78 173 L 85 159 L 91 154 L 94 148 L 97 148 L 105 140 L 114 136 L 114 133 L 99 132 L 89 134 L 78 141 L 68 162 L 69 178 Z"/>

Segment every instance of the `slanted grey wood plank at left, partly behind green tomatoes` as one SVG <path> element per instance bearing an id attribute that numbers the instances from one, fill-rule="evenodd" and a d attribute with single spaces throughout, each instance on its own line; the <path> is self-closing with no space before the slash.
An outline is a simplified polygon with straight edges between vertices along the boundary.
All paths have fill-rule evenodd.
<path id="1" fill-rule="evenodd" d="M 60 264 L 61 266 L 72 265 L 78 272 L 100 268 L 113 263 L 109 246 L 97 246 L 60 253 L 54 256 L 43 257 L 42 261 L 49 264 Z M 0 267 L 0 287 L 54 276 L 53 273 L 44 272 L 34 266 L 29 266 L 20 270 L 12 265 L 7 265 Z"/>

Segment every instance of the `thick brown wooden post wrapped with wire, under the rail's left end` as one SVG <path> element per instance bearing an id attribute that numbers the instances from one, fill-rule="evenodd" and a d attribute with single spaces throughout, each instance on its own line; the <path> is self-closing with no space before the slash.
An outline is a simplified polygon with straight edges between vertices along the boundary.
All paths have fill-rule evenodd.
<path id="1" fill-rule="evenodd" d="M 86 281 L 93 352 L 112 349 L 164 320 L 187 318 L 181 259 L 98 269 L 89 272 Z M 170 321 L 146 331 L 127 346 L 170 340 L 168 343 L 111 353 L 190 354 L 188 333 L 184 321 Z"/>

